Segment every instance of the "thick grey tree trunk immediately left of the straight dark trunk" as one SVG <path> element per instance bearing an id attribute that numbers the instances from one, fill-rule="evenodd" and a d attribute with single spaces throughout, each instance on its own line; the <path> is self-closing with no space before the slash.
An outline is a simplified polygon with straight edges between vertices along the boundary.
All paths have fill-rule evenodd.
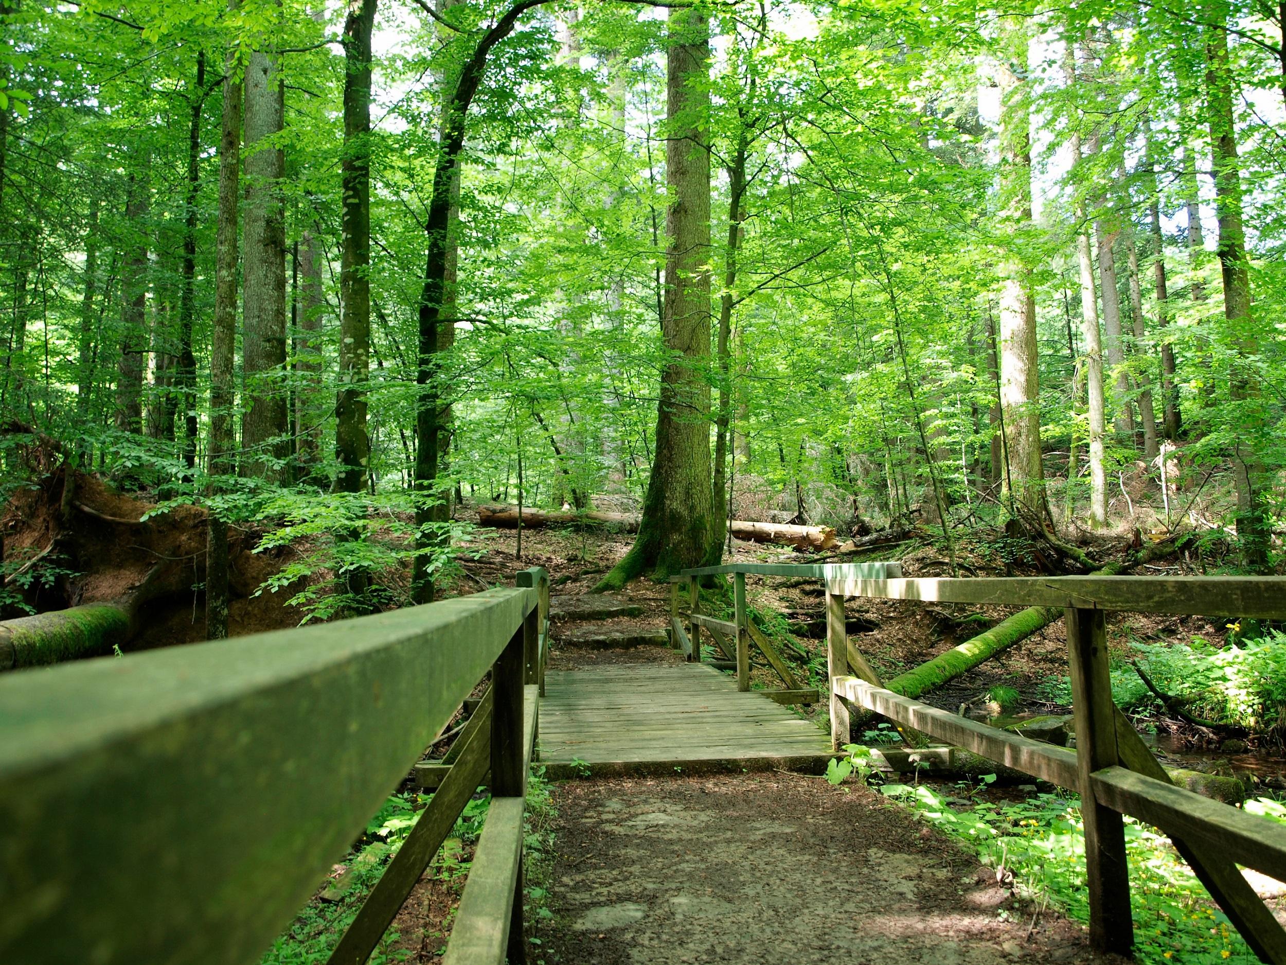
<path id="1" fill-rule="evenodd" d="M 284 124 L 285 91 L 274 55 L 256 50 L 246 67 L 246 224 L 242 274 L 243 476 L 275 481 L 285 437 L 285 153 L 266 145 Z"/>

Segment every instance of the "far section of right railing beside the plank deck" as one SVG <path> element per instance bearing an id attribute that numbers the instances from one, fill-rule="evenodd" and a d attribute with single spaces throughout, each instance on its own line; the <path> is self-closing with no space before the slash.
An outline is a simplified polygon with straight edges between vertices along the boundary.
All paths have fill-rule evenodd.
<path id="1" fill-rule="evenodd" d="M 733 578 L 733 619 L 716 620 L 701 612 L 701 578 L 730 574 Z M 815 704 L 820 695 L 815 687 L 801 686 L 782 660 L 777 647 L 751 620 L 746 609 L 746 575 L 793 576 L 796 579 L 883 579 L 900 576 L 901 564 L 742 564 L 737 566 L 702 566 L 684 570 L 670 578 L 670 646 L 682 650 L 694 663 L 701 661 L 701 630 L 710 633 L 723 660 L 712 661 L 719 669 L 737 672 L 737 688 L 750 690 L 751 645 L 764 655 L 769 666 L 784 685 L 779 690 L 761 691 L 778 704 Z M 688 609 L 682 607 L 682 588 L 687 588 Z M 687 623 L 687 627 L 684 627 Z M 841 624 L 842 625 L 842 624 Z"/>

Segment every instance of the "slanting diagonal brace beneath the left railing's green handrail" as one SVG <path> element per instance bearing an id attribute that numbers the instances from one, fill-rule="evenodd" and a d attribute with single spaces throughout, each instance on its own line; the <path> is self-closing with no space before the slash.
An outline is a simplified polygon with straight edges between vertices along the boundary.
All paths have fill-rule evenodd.
<path id="1" fill-rule="evenodd" d="M 478 726 L 462 735 L 464 748 L 454 767 L 446 768 L 441 786 L 410 829 L 403 847 L 363 902 L 358 916 L 331 952 L 328 965 L 363 965 L 374 951 L 397 911 L 451 832 L 457 818 L 491 767 L 491 712 L 477 714 Z"/>

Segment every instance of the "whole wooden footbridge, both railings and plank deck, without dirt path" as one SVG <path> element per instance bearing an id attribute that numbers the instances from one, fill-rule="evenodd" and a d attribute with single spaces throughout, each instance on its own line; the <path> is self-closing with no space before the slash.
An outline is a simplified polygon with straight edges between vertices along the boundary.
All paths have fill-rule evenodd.
<path id="1" fill-rule="evenodd" d="M 707 575 L 732 575 L 732 620 L 700 611 Z M 747 575 L 824 584 L 827 694 L 800 686 L 748 621 Z M 1286 880 L 1286 827 L 1169 784 L 1112 705 L 1105 624 L 1119 610 L 1286 619 L 1286 580 L 689 570 L 670 619 L 687 664 L 579 676 L 547 670 L 548 587 L 527 570 L 516 588 L 424 607 L 0 679 L 0 961 L 255 962 L 413 769 L 432 800 L 331 961 L 367 961 L 481 784 L 493 799 L 446 961 L 523 961 L 523 794 L 538 746 L 554 772 L 811 769 L 847 740 L 855 705 L 1082 795 L 1096 950 L 1132 947 L 1128 813 L 1170 835 L 1264 961 L 1286 962 L 1286 933 L 1238 868 Z M 883 688 L 847 639 L 849 596 L 1062 609 L 1078 751 Z M 723 657 L 712 666 L 700 665 L 703 633 Z M 779 690 L 750 691 L 752 647 Z M 451 759 L 417 764 L 484 678 Z M 829 735 L 783 706 L 818 697 Z"/>

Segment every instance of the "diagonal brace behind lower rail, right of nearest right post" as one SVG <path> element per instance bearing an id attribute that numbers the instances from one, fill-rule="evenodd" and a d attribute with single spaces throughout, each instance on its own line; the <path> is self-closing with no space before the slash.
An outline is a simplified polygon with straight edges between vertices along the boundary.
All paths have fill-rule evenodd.
<path id="1" fill-rule="evenodd" d="M 1119 708 L 1115 710 L 1116 750 L 1121 763 L 1154 781 L 1173 784 L 1129 718 Z M 1173 835 L 1170 841 L 1260 961 L 1286 965 L 1286 930 L 1228 856 L 1202 841 L 1188 843 L 1178 835 Z"/>

